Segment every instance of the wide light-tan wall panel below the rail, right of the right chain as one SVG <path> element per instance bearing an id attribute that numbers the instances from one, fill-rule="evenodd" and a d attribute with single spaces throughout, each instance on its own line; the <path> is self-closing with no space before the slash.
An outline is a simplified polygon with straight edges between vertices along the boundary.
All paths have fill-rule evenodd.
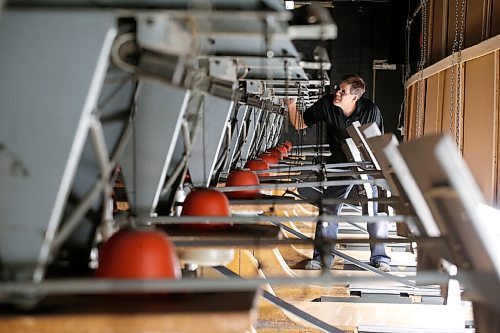
<path id="1" fill-rule="evenodd" d="M 465 64 L 463 157 L 487 201 L 496 192 L 495 64 L 493 53 Z"/>

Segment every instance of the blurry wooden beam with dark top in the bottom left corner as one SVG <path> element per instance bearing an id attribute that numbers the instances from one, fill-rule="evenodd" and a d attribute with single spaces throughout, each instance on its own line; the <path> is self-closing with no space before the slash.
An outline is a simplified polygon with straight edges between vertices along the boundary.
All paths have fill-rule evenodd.
<path id="1" fill-rule="evenodd" d="M 48 297 L 33 311 L 0 307 L 0 332 L 252 332 L 256 292 Z"/>

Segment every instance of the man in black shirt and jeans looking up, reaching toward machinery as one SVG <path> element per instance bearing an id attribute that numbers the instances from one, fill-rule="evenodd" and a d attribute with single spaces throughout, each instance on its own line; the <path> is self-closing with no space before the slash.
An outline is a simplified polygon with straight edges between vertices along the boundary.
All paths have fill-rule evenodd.
<path id="1" fill-rule="evenodd" d="M 318 100 L 314 105 L 309 107 L 302 118 L 302 115 L 297 112 L 296 99 L 285 99 L 288 107 L 290 122 L 295 129 L 304 129 L 323 121 L 325 123 L 328 144 L 332 156 L 329 158 L 329 163 L 345 163 L 347 157 L 342 151 L 342 145 L 345 144 L 345 139 L 349 137 L 346 128 L 351 126 L 353 122 L 359 121 L 361 124 L 376 123 L 380 130 L 384 131 L 382 114 L 379 108 L 372 101 L 361 97 L 365 92 L 365 83 L 362 78 L 357 75 L 349 74 L 344 76 L 340 81 L 339 89 L 335 94 L 325 96 Z M 337 178 L 338 179 L 338 178 Z M 377 187 L 372 186 L 374 197 L 377 197 Z M 326 198 L 345 198 L 349 191 L 349 186 L 330 186 L 323 196 Z M 319 199 L 320 195 L 315 191 L 301 191 L 301 193 L 309 199 Z M 326 213 L 331 215 L 339 215 L 341 205 L 328 205 L 325 207 Z M 374 211 L 377 212 L 378 205 L 374 204 Z M 387 238 L 388 223 L 368 223 L 368 233 L 370 238 Z M 338 235 L 338 223 L 323 223 L 316 224 L 316 239 L 336 239 Z M 306 264 L 306 269 L 321 269 L 323 265 L 330 267 L 333 263 L 333 254 L 330 248 L 314 247 L 312 260 Z M 377 243 L 370 245 L 371 257 L 370 264 L 377 267 L 381 271 L 390 271 L 391 258 L 385 252 L 385 244 Z M 323 257 L 322 257 L 323 255 Z"/>

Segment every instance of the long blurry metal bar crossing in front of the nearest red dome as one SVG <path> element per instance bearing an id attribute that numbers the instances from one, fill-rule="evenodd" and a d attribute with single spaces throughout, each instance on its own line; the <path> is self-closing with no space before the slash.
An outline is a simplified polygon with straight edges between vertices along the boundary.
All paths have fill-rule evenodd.
<path id="1" fill-rule="evenodd" d="M 447 283 L 449 275 L 435 271 L 420 272 L 415 276 L 419 284 L 436 285 Z M 459 280 L 465 286 L 471 281 L 491 281 L 491 275 L 477 272 L 459 274 Z M 301 285 L 301 284 L 331 284 L 331 283 L 370 283 L 384 282 L 387 278 L 378 275 L 371 276 L 333 276 L 324 272 L 308 277 L 274 277 L 252 279 L 46 279 L 34 282 L 5 282 L 0 285 L 0 300 L 12 301 L 18 296 L 48 296 L 48 295 L 84 295 L 113 294 L 123 292 L 186 292 L 186 291 L 234 291 L 258 288 L 263 284 L 270 285 Z"/>

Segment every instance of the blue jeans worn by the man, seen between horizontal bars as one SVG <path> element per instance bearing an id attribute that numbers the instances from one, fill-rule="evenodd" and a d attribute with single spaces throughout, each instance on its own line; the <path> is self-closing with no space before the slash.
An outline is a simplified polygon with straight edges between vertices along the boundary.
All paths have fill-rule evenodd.
<path id="1" fill-rule="evenodd" d="M 337 178 L 338 179 L 338 178 Z M 362 187 L 361 187 L 362 188 Z M 358 190 L 357 186 L 353 187 L 353 190 Z M 324 198 L 346 198 L 349 193 L 349 186 L 330 186 L 324 190 Z M 373 197 L 378 198 L 377 186 L 372 186 Z M 359 191 L 358 191 L 359 192 Z M 321 192 L 318 192 L 312 188 L 299 188 L 299 193 L 308 200 L 317 201 L 321 199 Z M 325 207 L 325 213 L 328 215 L 339 215 L 342 208 L 341 204 L 327 205 Z M 367 214 L 368 207 L 363 207 L 363 214 Z M 378 212 L 378 203 L 373 203 L 373 211 Z M 368 234 L 370 238 L 387 238 L 389 233 L 389 223 L 388 222 L 373 222 L 367 223 Z M 339 224 L 337 222 L 318 222 L 316 224 L 315 239 L 337 239 L 339 230 Z M 314 247 L 313 259 L 322 261 L 321 255 L 323 254 L 323 260 L 326 267 L 331 266 L 333 262 L 333 251 L 335 250 L 335 245 L 327 246 L 323 249 L 320 247 Z M 390 263 L 391 258 L 385 252 L 384 243 L 370 244 L 371 256 L 370 264 L 376 265 L 379 262 Z"/>

